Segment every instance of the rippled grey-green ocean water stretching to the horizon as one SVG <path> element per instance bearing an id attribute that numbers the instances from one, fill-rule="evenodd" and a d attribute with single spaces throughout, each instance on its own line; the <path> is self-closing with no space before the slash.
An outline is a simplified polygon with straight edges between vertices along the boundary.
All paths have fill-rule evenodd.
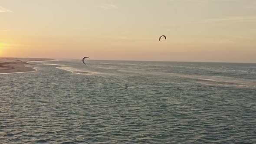
<path id="1" fill-rule="evenodd" d="M 30 63 L 0 74 L 0 144 L 256 144 L 256 64 Z"/>

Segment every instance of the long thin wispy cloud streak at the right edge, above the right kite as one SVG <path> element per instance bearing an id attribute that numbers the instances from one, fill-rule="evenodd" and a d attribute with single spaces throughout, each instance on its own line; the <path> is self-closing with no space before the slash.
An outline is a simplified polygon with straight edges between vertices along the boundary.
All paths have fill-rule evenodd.
<path id="1" fill-rule="evenodd" d="M 206 19 L 206 20 L 201 20 L 201 21 L 197 21 L 197 22 L 192 22 L 191 24 L 212 23 L 212 22 L 225 22 L 225 21 L 256 22 L 256 16 L 254 16 L 254 17 L 212 18 L 212 19 Z"/>

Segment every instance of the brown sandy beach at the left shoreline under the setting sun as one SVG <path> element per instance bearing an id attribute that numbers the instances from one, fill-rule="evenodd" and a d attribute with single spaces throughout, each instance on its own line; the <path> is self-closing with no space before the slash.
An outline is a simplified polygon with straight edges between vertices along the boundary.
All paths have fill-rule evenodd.
<path id="1" fill-rule="evenodd" d="M 54 59 L 40 59 L 40 58 L 0 58 L 0 74 L 13 72 L 32 72 L 36 69 L 26 67 L 32 65 L 30 61 L 46 61 Z"/>

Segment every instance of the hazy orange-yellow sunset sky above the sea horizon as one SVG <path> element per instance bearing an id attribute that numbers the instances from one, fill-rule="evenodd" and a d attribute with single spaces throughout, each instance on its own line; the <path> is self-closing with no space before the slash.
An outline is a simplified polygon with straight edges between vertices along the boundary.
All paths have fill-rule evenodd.
<path id="1" fill-rule="evenodd" d="M 0 57 L 84 56 L 256 63 L 256 0 L 0 0 Z"/>

